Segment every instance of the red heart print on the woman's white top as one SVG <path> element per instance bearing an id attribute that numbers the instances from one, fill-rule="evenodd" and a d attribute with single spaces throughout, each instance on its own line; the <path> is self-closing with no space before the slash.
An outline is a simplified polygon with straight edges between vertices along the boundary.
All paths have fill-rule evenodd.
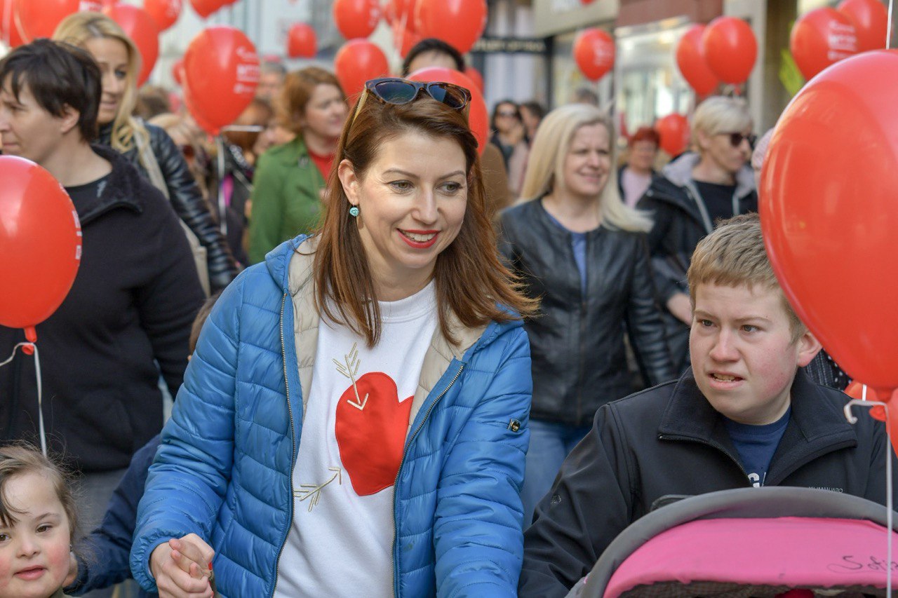
<path id="1" fill-rule="evenodd" d="M 356 379 L 355 346 L 345 356 L 345 365 L 336 359 L 334 363 L 340 374 L 352 381 L 337 404 L 334 432 L 339 457 L 356 494 L 366 497 L 396 481 L 412 400 L 400 402 L 396 383 L 383 372 L 369 372 Z"/>

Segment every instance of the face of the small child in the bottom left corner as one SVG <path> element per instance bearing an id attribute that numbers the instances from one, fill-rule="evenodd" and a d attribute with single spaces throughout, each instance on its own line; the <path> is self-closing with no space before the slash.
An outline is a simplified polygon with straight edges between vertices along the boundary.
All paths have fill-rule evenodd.
<path id="1" fill-rule="evenodd" d="M 24 473 L 6 482 L 8 506 L 21 511 L 0 527 L 0 598 L 47 598 L 68 573 L 69 525 L 52 482 Z"/>

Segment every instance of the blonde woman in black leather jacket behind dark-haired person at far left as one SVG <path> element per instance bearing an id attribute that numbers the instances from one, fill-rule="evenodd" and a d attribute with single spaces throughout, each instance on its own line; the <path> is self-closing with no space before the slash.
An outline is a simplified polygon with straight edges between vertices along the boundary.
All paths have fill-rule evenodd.
<path id="1" fill-rule="evenodd" d="M 100 65 L 103 91 L 97 116 L 99 143 L 124 154 L 171 200 L 175 212 L 196 236 L 191 241 L 198 241 L 206 249 L 205 258 L 198 259 L 198 267 L 206 261 L 202 268 L 207 272 L 200 272 L 204 285 L 207 279 L 212 292 L 227 286 L 237 274 L 236 264 L 178 146 L 163 129 L 132 116 L 140 71 L 140 52 L 134 41 L 119 23 L 89 11 L 66 17 L 53 39 L 86 49 Z"/>

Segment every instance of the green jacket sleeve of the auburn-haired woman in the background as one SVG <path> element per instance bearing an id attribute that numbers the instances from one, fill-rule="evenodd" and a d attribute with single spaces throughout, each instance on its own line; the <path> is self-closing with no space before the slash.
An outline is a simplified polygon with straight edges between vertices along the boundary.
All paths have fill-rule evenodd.
<path id="1" fill-rule="evenodd" d="M 277 168 L 277 156 L 262 154 L 253 177 L 252 208 L 250 215 L 251 264 L 265 260 L 265 254 L 282 242 L 280 238 L 284 206 L 284 176 Z"/>

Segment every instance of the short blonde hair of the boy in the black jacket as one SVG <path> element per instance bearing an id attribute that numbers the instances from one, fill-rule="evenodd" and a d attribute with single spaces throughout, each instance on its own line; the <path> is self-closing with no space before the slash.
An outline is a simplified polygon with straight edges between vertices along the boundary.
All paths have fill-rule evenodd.
<path id="1" fill-rule="evenodd" d="M 798 319 L 764 249 L 761 233 L 761 218 L 757 214 L 737 215 L 724 220 L 718 228 L 702 239 L 695 252 L 689 272 L 689 297 L 695 307 L 695 291 L 701 284 L 723 286 L 761 286 L 770 291 L 778 291 L 783 309 L 788 317 L 792 342 L 796 342 L 807 332 L 805 324 Z"/>

